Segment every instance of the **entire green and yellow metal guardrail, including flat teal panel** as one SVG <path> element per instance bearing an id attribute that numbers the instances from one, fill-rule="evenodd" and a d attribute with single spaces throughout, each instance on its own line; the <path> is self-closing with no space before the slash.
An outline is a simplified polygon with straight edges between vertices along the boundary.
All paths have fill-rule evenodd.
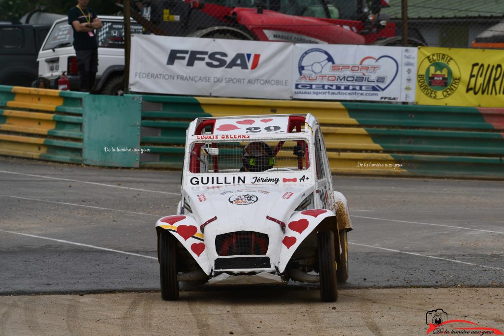
<path id="1" fill-rule="evenodd" d="M 0 155 L 179 169 L 185 130 L 196 117 L 308 112 L 322 124 L 335 173 L 504 179 L 504 109 L 495 108 L 112 97 L 0 86 Z M 108 153 L 107 146 L 138 151 Z"/>

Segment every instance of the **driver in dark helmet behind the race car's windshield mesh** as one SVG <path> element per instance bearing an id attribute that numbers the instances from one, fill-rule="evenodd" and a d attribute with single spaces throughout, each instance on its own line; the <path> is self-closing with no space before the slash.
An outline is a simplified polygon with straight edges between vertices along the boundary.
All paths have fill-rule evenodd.
<path id="1" fill-rule="evenodd" d="M 264 141 L 255 141 L 243 148 L 241 155 L 243 167 L 240 172 L 258 172 L 273 168 L 275 155 L 273 149 Z"/>

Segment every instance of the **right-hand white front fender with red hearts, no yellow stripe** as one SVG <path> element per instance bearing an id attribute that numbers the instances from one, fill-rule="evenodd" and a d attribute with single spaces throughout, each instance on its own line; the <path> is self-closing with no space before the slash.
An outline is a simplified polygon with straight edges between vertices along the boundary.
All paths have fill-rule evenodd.
<path id="1" fill-rule="evenodd" d="M 324 230 L 333 230 L 335 237 L 338 237 L 336 214 L 325 209 L 311 209 L 295 212 L 289 219 L 285 227 L 285 234 L 280 249 L 278 269 L 283 273 L 294 251 L 301 242 L 318 226 L 323 225 Z M 320 229 L 320 228 L 319 228 Z M 335 241 L 337 246 L 338 242 Z M 341 248 L 340 248 L 341 253 Z"/>

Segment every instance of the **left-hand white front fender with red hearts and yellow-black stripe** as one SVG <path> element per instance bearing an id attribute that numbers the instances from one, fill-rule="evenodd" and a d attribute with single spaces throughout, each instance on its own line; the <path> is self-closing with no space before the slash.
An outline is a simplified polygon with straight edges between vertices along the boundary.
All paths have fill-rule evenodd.
<path id="1" fill-rule="evenodd" d="M 203 233 L 196 219 L 191 215 L 174 215 L 160 218 L 156 222 L 158 235 L 158 260 L 159 260 L 159 233 L 160 230 L 170 232 L 183 247 L 198 262 L 203 272 L 210 275 L 211 267 Z"/>

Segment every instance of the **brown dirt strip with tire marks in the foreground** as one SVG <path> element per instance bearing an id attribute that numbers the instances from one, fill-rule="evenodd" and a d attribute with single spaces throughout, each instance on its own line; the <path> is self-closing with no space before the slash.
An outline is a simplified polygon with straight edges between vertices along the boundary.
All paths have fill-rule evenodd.
<path id="1" fill-rule="evenodd" d="M 502 289 L 159 292 L 0 297 L 2 335 L 425 335 L 426 312 L 504 330 Z M 450 324 L 450 326 L 467 326 Z M 452 330 L 451 327 L 449 330 Z M 432 334 L 432 333 L 431 333 Z"/>

